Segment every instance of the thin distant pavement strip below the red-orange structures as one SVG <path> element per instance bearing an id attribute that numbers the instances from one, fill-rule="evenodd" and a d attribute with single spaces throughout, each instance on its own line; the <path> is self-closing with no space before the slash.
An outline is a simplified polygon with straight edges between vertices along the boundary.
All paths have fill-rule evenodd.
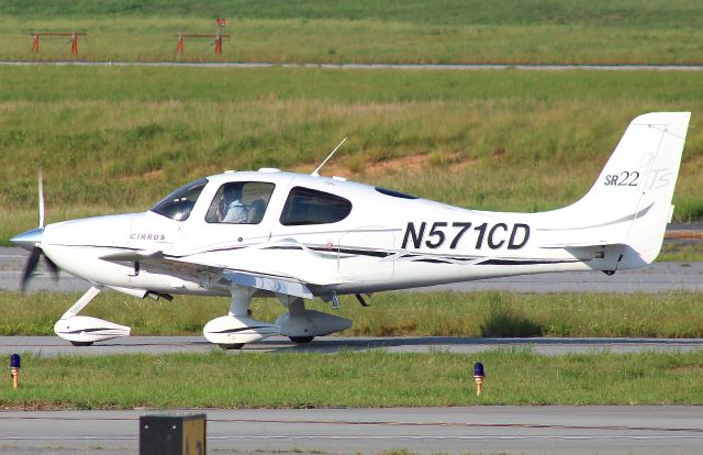
<path id="1" fill-rule="evenodd" d="M 703 65 L 513 65 L 513 64 L 325 64 L 272 62 L 83 62 L 83 60 L 0 60 L 3 66 L 154 66 L 200 68 L 322 68 L 322 69 L 410 69 L 410 70 L 486 70 L 521 69 L 562 71 L 569 69 L 596 71 L 701 71 Z"/>

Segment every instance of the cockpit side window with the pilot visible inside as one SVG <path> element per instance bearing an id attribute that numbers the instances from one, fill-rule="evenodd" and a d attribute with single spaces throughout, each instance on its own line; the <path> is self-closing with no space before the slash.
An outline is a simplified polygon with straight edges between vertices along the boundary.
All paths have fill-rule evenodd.
<path id="1" fill-rule="evenodd" d="M 276 186 L 267 181 L 231 181 L 220 187 L 205 222 L 259 224 Z"/>

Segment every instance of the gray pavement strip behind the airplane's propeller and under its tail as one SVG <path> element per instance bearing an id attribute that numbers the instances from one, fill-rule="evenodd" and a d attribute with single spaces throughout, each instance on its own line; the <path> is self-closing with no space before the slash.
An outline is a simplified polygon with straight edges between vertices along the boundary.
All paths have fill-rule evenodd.
<path id="1" fill-rule="evenodd" d="M 22 248 L 0 247 L 0 290 L 19 290 L 20 275 L 27 252 Z M 55 282 L 40 265 L 29 285 L 30 291 L 85 292 L 90 285 L 66 273 Z M 703 263 L 655 263 L 635 270 L 622 270 L 613 276 L 601 271 L 525 275 L 467 281 L 445 286 L 413 289 L 420 291 L 479 291 L 505 290 L 511 292 L 669 292 L 703 291 Z"/>

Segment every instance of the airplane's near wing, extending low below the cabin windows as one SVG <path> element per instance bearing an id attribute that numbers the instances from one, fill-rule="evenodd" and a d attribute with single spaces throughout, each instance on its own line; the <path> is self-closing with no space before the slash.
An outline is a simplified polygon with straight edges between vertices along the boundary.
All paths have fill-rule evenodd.
<path id="1" fill-rule="evenodd" d="M 193 280 L 199 280 L 202 274 L 211 274 L 217 280 L 225 280 L 236 286 L 284 293 L 303 299 L 315 298 L 308 288 L 308 284 L 295 277 L 198 264 L 186 258 L 164 255 L 164 252 L 129 251 L 110 253 L 100 258 L 115 264 L 134 265 L 135 269 L 170 275 L 178 274 L 190 277 Z"/>

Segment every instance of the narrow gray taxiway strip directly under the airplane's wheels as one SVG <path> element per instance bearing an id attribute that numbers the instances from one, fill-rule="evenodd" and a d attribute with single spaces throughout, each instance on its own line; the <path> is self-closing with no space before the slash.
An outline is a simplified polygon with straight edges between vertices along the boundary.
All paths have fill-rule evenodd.
<path id="1" fill-rule="evenodd" d="M 258 353 L 335 353 L 339 351 L 369 351 L 382 348 L 393 353 L 424 353 L 446 351 L 479 353 L 489 349 L 531 349 L 544 355 L 593 353 L 609 351 L 615 354 L 645 351 L 678 353 L 703 349 L 701 339 L 471 339 L 450 336 L 322 336 L 310 344 L 293 344 L 288 337 L 271 336 L 247 344 L 232 355 Z M 108 340 L 92 346 L 72 346 L 58 336 L 0 336 L 0 356 L 33 353 L 42 356 L 111 355 L 111 354 L 205 354 L 220 347 L 202 336 L 129 336 Z M 703 419 L 703 415 L 701 417 Z"/>

